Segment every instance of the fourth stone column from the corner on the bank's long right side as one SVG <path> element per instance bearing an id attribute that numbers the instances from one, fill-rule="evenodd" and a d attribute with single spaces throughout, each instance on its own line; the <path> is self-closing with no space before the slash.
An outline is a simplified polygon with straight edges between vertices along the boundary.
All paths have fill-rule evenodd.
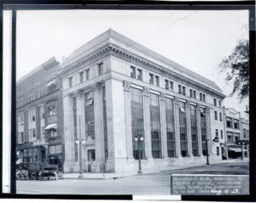
<path id="1" fill-rule="evenodd" d="M 180 130 L 179 130 L 179 101 L 178 98 L 174 98 L 174 126 L 175 126 L 175 149 L 176 158 L 181 157 L 180 151 Z"/>

